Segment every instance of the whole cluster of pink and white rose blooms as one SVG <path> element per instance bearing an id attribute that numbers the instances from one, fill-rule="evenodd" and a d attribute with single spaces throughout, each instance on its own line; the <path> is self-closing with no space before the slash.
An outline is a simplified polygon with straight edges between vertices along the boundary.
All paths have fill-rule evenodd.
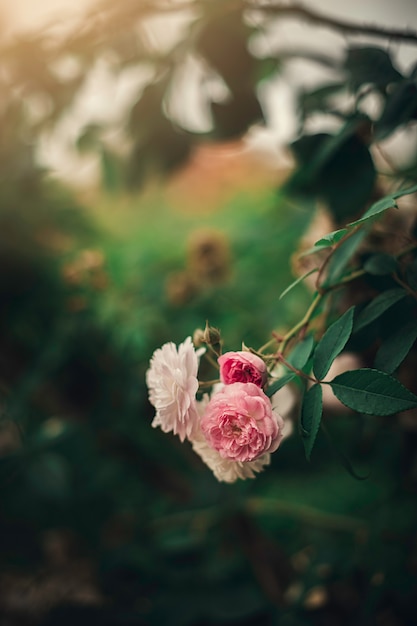
<path id="1" fill-rule="evenodd" d="M 210 345 L 210 344 L 208 344 Z M 188 439 L 219 481 L 254 478 L 283 438 L 284 420 L 264 393 L 266 363 L 251 352 L 219 355 L 220 382 L 197 399 L 199 357 L 190 337 L 155 350 L 146 373 L 152 426 Z"/>

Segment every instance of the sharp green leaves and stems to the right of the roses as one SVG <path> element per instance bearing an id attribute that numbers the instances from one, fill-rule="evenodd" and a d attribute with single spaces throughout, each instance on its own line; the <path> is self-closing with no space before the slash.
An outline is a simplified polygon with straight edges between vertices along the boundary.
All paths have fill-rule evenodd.
<path id="1" fill-rule="evenodd" d="M 355 252 L 364 236 L 369 233 L 369 226 L 380 219 L 384 212 L 397 207 L 397 200 L 414 194 L 417 187 L 402 189 L 380 199 L 365 213 L 349 223 L 345 228 L 322 237 L 309 251 L 327 250 L 329 256 L 323 263 L 328 266 L 327 276 L 323 277 L 323 267 L 316 268 L 318 281 L 315 299 L 303 320 L 290 330 L 282 340 L 278 340 L 280 359 L 292 373 L 272 384 L 272 389 L 279 389 L 282 383 L 289 382 L 294 375 L 300 381 L 312 380 L 313 385 L 305 391 L 300 414 L 300 434 L 303 438 L 305 453 L 310 458 L 323 414 L 322 386 L 329 385 L 335 397 L 349 409 L 362 415 L 388 416 L 417 408 L 417 396 L 407 389 L 393 375 L 413 349 L 417 338 L 417 320 L 415 300 L 417 292 L 414 284 L 416 244 L 406 247 L 396 256 L 375 254 L 367 258 L 363 266 L 356 266 Z M 403 262 L 406 257 L 406 262 Z M 282 295 L 286 295 L 307 274 L 295 280 Z M 396 286 L 384 289 L 374 295 L 367 303 L 351 306 L 334 321 L 331 298 L 334 292 L 344 288 L 359 278 L 375 276 L 390 277 Z M 388 283 L 388 286 L 390 283 Z M 313 333 L 298 341 L 287 357 L 282 356 L 286 345 L 298 333 L 308 332 L 316 309 L 323 300 L 330 298 L 330 310 L 327 312 L 325 331 L 316 340 Z M 337 302 L 337 301 L 336 301 Z M 389 320 L 394 312 L 397 319 L 391 326 Z M 329 322 L 331 322 L 329 324 Z M 366 335 L 377 346 L 373 367 L 362 367 L 340 373 L 328 378 L 329 370 L 339 354 L 350 342 L 351 346 L 362 341 Z M 363 351 L 363 347 L 362 347 Z M 314 378 L 312 378 L 314 377 Z M 305 382 L 304 382 L 305 386 Z"/>

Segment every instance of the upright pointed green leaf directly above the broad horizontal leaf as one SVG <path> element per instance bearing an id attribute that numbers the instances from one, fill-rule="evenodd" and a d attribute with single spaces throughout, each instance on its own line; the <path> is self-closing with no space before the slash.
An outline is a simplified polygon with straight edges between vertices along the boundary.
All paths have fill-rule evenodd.
<path id="1" fill-rule="evenodd" d="M 345 347 L 352 333 L 354 311 L 355 307 L 351 307 L 329 326 L 317 344 L 314 351 L 313 371 L 319 380 L 326 376 L 331 364 Z"/>

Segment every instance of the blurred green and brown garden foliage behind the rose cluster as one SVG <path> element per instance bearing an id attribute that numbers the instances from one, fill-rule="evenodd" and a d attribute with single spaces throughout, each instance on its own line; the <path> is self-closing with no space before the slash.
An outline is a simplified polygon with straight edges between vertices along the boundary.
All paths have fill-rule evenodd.
<path id="1" fill-rule="evenodd" d="M 345 44 L 339 59 L 275 53 L 261 45 L 271 24 L 320 16 L 258 9 L 255 0 L 105 0 L 75 28 L 1 44 L 5 626 L 414 623 L 412 419 L 328 411 L 332 439 L 366 480 L 346 473 L 324 437 L 307 464 L 292 436 L 264 474 L 233 486 L 150 428 L 144 375 L 155 348 L 207 319 L 227 349 L 261 345 L 308 306 L 301 286 L 278 297 L 317 203 L 331 230 L 384 189 L 416 182 L 416 66 L 397 66 L 395 33 Z M 407 32 L 396 39 L 415 44 Z M 279 168 L 249 161 L 216 195 L 222 167 L 233 167 L 226 159 L 187 187 L 192 177 L 178 176 L 207 145 L 220 158 L 219 143 L 236 148 L 253 125 L 268 126 L 265 85 L 300 54 L 323 78 L 296 94 L 284 184 Z M 133 68 L 139 86 L 117 119 L 79 133 L 76 148 L 98 158 L 101 177 L 81 193 L 49 176 L 38 150 L 103 61 L 115 80 Z M 317 117 L 327 123 L 319 132 Z M 412 141 L 398 160 L 384 141 L 401 133 Z"/>

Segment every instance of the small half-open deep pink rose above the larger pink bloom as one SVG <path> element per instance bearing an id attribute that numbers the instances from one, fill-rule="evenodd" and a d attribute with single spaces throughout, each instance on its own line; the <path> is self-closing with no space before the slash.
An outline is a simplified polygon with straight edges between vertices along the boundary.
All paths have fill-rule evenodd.
<path id="1" fill-rule="evenodd" d="M 264 361 L 252 352 L 226 352 L 218 358 L 220 380 L 225 385 L 254 383 L 264 387 L 268 373 Z"/>

